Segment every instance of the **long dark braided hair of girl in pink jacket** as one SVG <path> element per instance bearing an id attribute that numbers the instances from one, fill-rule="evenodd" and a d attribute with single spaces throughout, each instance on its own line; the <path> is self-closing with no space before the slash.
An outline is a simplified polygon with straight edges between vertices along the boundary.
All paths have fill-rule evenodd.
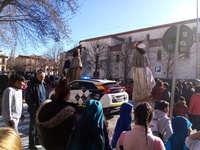
<path id="1" fill-rule="evenodd" d="M 135 108 L 134 115 L 137 118 L 137 124 L 145 127 L 146 145 L 148 145 L 147 130 L 153 118 L 153 108 L 147 102 L 141 103 Z"/>

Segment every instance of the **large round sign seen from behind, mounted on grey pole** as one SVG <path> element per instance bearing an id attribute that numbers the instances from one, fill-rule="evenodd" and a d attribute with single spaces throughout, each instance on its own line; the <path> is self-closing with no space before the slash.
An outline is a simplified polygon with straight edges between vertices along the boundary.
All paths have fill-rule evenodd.
<path id="1" fill-rule="evenodd" d="M 162 42 L 164 48 L 170 53 L 175 52 L 176 47 L 176 31 L 177 26 L 170 27 L 163 36 Z M 179 37 L 179 52 L 185 52 L 192 47 L 194 42 L 193 32 L 190 27 L 186 25 L 180 26 L 180 37 Z"/>

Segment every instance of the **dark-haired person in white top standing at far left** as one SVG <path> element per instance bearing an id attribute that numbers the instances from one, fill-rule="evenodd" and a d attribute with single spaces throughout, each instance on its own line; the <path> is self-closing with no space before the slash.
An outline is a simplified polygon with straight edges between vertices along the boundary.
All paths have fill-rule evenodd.
<path id="1" fill-rule="evenodd" d="M 20 75 L 10 77 L 10 85 L 2 95 L 1 115 L 3 122 L 7 127 L 12 127 L 18 132 L 19 120 L 23 121 L 23 101 L 22 89 L 25 84 L 25 78 Z"/>

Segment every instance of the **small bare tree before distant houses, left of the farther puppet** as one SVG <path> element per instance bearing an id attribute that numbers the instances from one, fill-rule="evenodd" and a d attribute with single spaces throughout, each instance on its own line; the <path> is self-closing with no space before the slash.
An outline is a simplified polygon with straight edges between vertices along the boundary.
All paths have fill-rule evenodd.
<path id="1" fill-rule="evenodd" d="M 53 72 L 55 75 L 58 75 L 61 63 L 60 62 L 61 53 L 63 53 L 63 47 L 58 45 L 58 43 L 43 53 L 43 55 L 49 59 L 49 63 L 53 66 Z"/>

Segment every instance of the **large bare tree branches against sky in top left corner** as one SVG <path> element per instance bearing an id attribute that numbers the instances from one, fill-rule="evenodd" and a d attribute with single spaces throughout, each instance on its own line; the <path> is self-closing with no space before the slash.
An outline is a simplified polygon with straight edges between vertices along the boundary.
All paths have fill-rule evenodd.
<path id="1" fill-rule="evenodd" d="M 0 0 L 1 42 L 23 47 L 68 40 L 68 21 L 78 9 L 77 0 Z"/>

